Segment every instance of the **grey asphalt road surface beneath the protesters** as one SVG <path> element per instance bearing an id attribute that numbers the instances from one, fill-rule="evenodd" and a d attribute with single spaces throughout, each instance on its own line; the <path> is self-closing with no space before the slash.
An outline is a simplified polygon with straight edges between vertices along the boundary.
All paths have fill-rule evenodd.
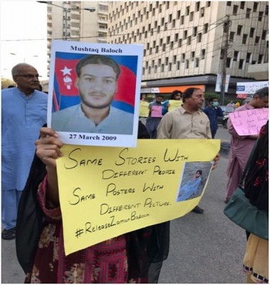
<path id="1" fill-rule="evenodd" d="M 230 135 L 219 126 L 216 135 L 228 144 Z M 199 206 L 204 214 L 190 212 L 171 222 L 170 254 L 162 266 L 160 283 L 245 283 L 242 272 L 246 236 L 223 214 L 227 184 L 227 153 L 213 170 Z M 1 283 L 20 284 L 24 272 L 18 264 L 15 241 L 1 243 Z"/>

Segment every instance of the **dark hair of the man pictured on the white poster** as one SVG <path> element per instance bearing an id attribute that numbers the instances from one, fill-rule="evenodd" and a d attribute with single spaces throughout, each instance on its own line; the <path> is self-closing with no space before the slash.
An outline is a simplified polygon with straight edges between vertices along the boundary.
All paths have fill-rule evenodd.
<path id="1" fill-rule="evenodd" d="M 81 76 L 81 68 L 83 66 L 87 66 L 88 64 L 104 64 L 105 66 L 110 66 L 113 68 L 113 71 L 116 73 L 116 80 L 120 75 L 120 66 L 113 58 L 109 58 L 108 56 L 100 56 L 99 54 L 90 54 L 89 56 L 85 56 L 76 64 L 75 71 L 78 77 Z"/>

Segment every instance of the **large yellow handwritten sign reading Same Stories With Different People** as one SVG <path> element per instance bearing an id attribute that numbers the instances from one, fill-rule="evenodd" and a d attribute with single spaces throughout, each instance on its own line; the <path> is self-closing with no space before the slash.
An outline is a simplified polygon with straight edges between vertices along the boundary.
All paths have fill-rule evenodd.
<path id="1" fill-rule="evenodd" d="M 66 254 L 190 212 L 219 146 L 220 140 L 138 140 L 130 148 L 64 145 L 57 172 Z M 189 195 L 187 185 L 198 170 L 201 189 Z"/>

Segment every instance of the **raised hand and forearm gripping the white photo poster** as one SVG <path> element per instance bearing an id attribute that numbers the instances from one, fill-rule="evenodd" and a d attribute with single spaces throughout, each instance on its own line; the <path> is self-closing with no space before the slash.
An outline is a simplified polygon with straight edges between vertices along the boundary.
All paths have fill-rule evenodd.
<path id="1" fill-rule="evenodd" d="M 55 206 L 59 205 L 58 182 L 56 173 L 56 159 L 62 156 L 63 142 L 51 128 L 41 128 L 41 135 L 36 140 L 36 155 L 46 165 L 47 190 L 46 198 Z"/>

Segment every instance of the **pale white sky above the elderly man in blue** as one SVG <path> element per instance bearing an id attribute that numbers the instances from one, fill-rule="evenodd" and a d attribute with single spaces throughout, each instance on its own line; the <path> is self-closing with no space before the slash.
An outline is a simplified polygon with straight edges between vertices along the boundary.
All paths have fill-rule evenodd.
<path id="1" fill-rule="evenodd" d="M 47 80 L 47 5 L 36 1 L 0 1 L 1 77 L 12 79 L 11 68 L 26 62 Z"/>

